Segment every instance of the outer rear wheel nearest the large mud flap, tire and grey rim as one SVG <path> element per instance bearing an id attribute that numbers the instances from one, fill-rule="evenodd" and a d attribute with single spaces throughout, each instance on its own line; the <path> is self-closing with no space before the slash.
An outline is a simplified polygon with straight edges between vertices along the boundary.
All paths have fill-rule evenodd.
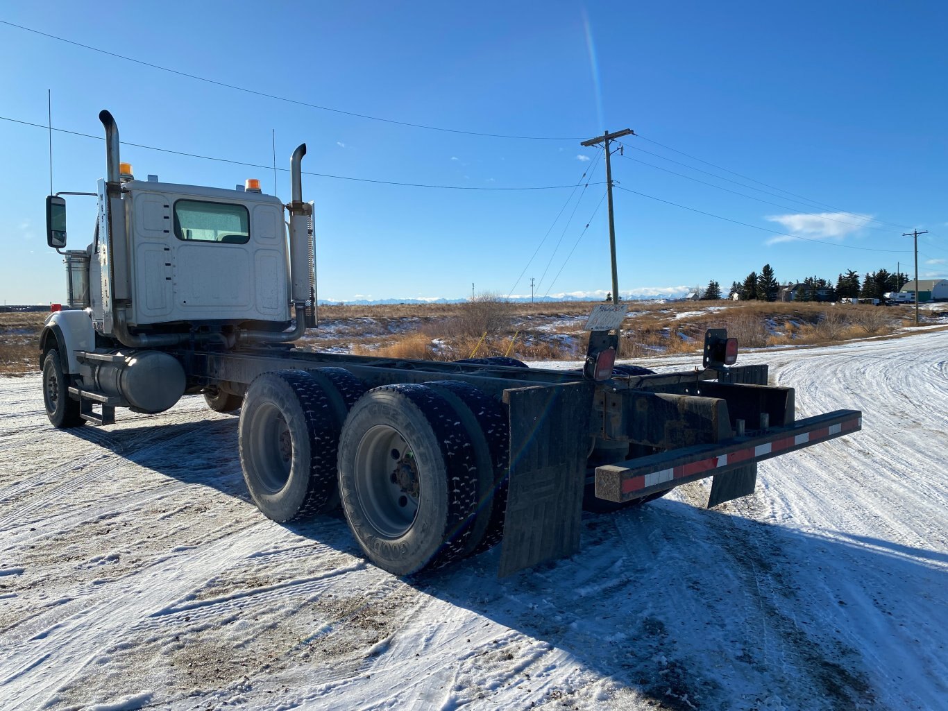
<path id="1" fill-rule="evenodd" d="M 367 392 L 339 441 L 342 510 L 365 555 L 396 575 L 465 556 L 477 454 L 447 399 L 423 385 Z"/>

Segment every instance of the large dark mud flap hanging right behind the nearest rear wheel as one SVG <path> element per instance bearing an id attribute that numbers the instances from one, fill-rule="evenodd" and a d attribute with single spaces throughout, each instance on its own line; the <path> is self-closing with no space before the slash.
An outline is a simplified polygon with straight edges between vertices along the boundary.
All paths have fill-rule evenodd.
<path id="1" fill-rule="evenodd" d="M 593 383 L 503 393 L 510 410 L 510 480 L 498 575 L 579 550 Z"/>

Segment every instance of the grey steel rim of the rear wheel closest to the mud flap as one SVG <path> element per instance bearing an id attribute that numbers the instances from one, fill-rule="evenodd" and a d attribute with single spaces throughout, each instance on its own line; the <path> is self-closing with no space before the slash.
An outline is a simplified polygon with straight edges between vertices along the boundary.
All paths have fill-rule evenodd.
<path id="1" fill-rule="evenodd" d="M 400 538 L 418 515 L 418 463 L 401 432 L 376 425 L 356 447 L 356 496 L 366 520 L 383 538 Z"/>

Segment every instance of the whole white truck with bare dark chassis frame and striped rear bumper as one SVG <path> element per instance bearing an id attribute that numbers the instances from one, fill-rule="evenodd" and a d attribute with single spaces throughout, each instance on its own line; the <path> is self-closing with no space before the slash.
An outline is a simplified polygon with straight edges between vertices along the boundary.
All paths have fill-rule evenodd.
<path id="1" fill-rule="evenodd" d="M 313 353 L 313 203 L 301 160 L 283 204 L 244 190 L 137 180 L 100 113 L 106 176 L 91 243 L 64 250 L 65 199 L 46 198 L 64 254 L 65 307 L 40 338 L 57 428 L 108 426 L 203 393 L 240 411 L 240 463 L 264 516 L 341 506 L 365 556 L 411 574 L 501 543 L 499 574 L 579 549 L 584 507 L 620 508 L 712 477 L 708 505 L 754 492 L 757 463 L 861 428 L 861 412 L 796 420 L 767 366 L 734 366 L 737 341 L 705 336 L 703 363 L 654 374 L 614 365 L 625 308 L 590 319 L 584 367 Z M 284 213 L 288 221 L 284 222 Z M 288 226 L 288 227 L 287 227 Z"/>

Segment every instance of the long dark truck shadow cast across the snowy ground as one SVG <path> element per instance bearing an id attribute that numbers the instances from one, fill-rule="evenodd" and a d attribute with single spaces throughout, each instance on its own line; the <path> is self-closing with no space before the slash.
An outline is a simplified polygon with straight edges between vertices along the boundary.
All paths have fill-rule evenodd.
<path id="1" fill-rule="evenodd" d="M 75 431 L 137 465 L 252 507 L 237 423 Z M 864 536 L 803 533 L 744 518 L 740 510 L 740 502 L 705 510 L 665 499 L 584 515 L 582 549 L 571 558 L 499 580 L 495 547 L 406 582 L 432 601 L 520 633 L 456 664 L 503 664 L 541 641 L 568 654 L 577 684 L 579 670 L 605 678 L 599 693 L 619 707 L 892 708 L 888 699 L 902 700 L 902 707 L 937 705 L 945 667 L 938 635 L 948 629 L 938 591 L 948 589 L 948 555 Z M 285 527 L 359 556 L 341 516 Z M 523 684 L 542 688 L 542 664 L 508 665 L 520 669 L 512 674 L 525 676 Z M 884 678 L 867 671 L 878 667 L 886 669 Z M 550 694 L 547 701 L 565 707 L 571 697 L 585 699 L 579 687 L 557 686 Z"/>

